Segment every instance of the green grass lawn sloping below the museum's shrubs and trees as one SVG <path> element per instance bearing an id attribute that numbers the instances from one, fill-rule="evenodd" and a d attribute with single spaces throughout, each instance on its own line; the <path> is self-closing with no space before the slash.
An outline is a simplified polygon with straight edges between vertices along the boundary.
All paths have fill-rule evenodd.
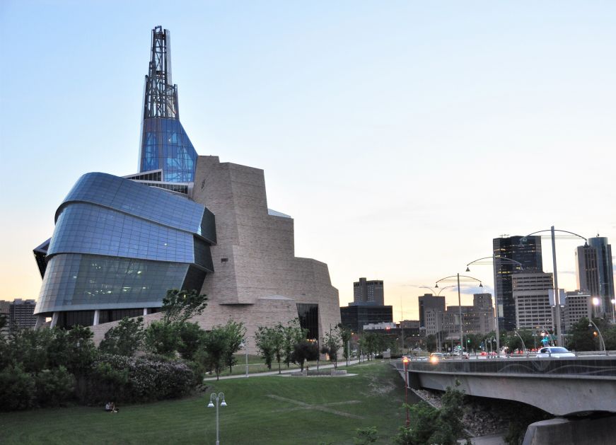
<path id="1" fill-rule="evenodd" d="M 404 383 L 387 363 L 349 367 L 347 377 L 252 376 L 208 382 L 206 394 L 147 405 L 60 408 L 0 414 L 1 444 L 214 444 L 223 391 L 221 444 L 353 444 L 356 428 L 375 426 L 390 444 L 405 422 Z"/>

